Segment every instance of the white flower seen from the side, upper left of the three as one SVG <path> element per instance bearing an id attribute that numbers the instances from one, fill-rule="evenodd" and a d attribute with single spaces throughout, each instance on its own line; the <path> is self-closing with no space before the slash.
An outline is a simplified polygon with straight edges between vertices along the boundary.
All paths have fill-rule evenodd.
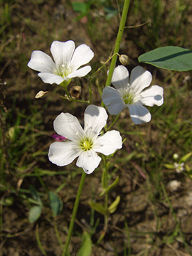
<path id="1" fill-rule="evenodd" d="M 54 61 L 41 50 L 34 50 L 28 63 L 29 68 L 40 72 L 38 76 L 43 82 L 60 85 L 65 81 L 65 85 L 68 85 L 72 78 L 83 77 L 91 70 L 90 65 L 80 68 L 94 56 L 90 47 L 85 44 L 75 49 L 73 41 L 53 41 L 50 52 Z"/>

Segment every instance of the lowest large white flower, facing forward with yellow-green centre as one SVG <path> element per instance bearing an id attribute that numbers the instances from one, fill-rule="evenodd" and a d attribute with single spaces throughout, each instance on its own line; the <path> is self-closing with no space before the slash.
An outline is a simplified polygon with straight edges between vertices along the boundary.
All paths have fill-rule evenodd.
<path id="1" fill-rule="evenodd" d="M 70 141 L 50 144 L 49 160 L 58 166 L 66 166 L 78 157 L 76 165 L 82 167 L 86 174 L 91 174 L 101 161 L 96 152 L 107 156 L 122 148 L 119 132 L 113 130 L 100 135 L 107 117 L 105 108 L 89 105 L 85 110 L 82 129 L 72 114 L 59 114 L 54 121 L 55 132 Z"/>

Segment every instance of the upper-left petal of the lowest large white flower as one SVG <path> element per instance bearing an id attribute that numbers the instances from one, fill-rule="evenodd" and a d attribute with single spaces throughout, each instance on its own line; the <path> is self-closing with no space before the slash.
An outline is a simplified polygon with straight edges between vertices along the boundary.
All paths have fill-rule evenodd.
<path id="1" fill-rule="evenodd" d="M 59 114 L 53 126 L 55 132 L 73 142 L 79 142 L 85 134 L 78 119 L 69 113 Z"/>

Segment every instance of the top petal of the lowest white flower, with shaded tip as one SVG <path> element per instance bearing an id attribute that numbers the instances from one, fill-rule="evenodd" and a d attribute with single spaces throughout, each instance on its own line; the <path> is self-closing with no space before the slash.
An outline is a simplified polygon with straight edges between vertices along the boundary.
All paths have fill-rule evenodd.
<path id="1" fill-rule="evenodd" d="M 87 137 L 96 138 L 107 123 L 107 112 L 104 107 L 89 105 L 84 114 L 84 130 Z"/>

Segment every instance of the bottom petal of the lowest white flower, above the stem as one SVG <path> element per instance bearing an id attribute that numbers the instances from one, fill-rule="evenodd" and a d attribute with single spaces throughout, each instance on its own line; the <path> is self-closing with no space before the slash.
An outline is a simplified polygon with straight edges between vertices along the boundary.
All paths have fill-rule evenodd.
<path id="1" fill-rule="evenodd" d="M 82 151 L 76 165 L 81 167 L 86 174 L 91 174 L 100 164 L 101 158 L 93 150 Z"/>

